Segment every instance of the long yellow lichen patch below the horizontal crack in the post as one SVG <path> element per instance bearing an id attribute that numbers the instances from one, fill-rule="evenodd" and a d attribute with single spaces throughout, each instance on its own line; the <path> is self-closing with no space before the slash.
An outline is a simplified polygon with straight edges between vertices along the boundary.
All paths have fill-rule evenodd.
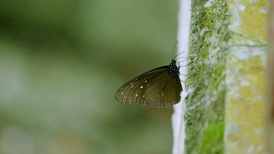
<path id="1" fill-rule="evenodd" d="M 259 55 L 231 56 L 228 65 L 235 78 L 226 100 L 226 153 L 263 153 L 265 66 Z"/>

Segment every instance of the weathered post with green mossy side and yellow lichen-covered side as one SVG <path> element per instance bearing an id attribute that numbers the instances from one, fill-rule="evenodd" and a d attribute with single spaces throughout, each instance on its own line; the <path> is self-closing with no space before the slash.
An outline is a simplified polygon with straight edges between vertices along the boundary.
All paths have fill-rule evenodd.
<path id="1" fill-rule="evenodd" d="M 264 0 L 193 0 L 184 153 L 263 153 Z"/>

